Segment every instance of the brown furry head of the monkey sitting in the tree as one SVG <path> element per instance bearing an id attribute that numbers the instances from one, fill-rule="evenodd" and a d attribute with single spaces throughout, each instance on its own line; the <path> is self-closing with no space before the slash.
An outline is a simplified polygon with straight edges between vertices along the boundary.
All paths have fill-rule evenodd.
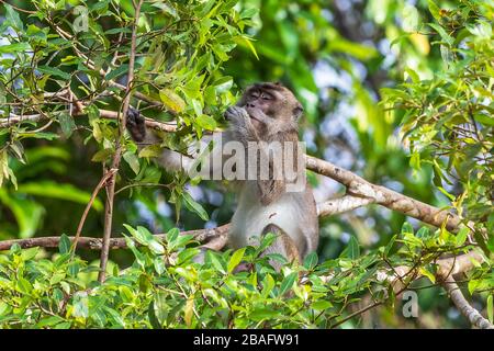
<path id="1" fill-rule="evenodd" d="M 252 120 L 252 111 L 260 110 L 270 118 L 295 125 L 304 111 L 295 95 L 279 82 L 256 83 L 247 88 L 237 105 L 246 109 Z"/>

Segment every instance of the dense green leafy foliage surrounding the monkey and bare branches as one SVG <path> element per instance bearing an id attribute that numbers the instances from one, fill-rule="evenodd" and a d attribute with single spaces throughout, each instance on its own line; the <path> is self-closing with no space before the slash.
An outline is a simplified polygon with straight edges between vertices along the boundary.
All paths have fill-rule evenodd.
<path id="1" fill-rule="evenodd" d="M 459 283 L 492 321 L 492 1 L 144 1 L 131 103 L 177 121 L 160 147 L 183 150 L 221 127 L 247 83 L 282 80 L 304 104 L 308 154 L 451 207 L 467 225 L 454 234 L 359 208 L 322 218 L 318 253 L 281 272 L 259 257 L 271 237 L 193 263 L 198 244 L 178 228 L 227 223 L 232 194 L 158 169 L 149 158 L 159 148 L 138 151 L 109 115 L 123 110 L 132 1 L 10 2 L 0 1 L 0 239 L 61 240 L 58 252 L 0 253 L 0 328 L 465 327 L 434 261 L 472 248 L 486 262 Z M 97 256 L 74 254 L 64 233 L 76 231 L 120 144 L 113 231 L 130 249 L 112 252 L 100 284 Z M 308 177 L 318 201 L 340 192 Z M 100 194 L 85 236 L 101 237 L 103 208 Z M 240 261 L 248 272 L 234 270 Z M 394 308 L 401 297 L 382 279 L 402 265 L 427 278 L 403 282 L 419 318 Z"/>

